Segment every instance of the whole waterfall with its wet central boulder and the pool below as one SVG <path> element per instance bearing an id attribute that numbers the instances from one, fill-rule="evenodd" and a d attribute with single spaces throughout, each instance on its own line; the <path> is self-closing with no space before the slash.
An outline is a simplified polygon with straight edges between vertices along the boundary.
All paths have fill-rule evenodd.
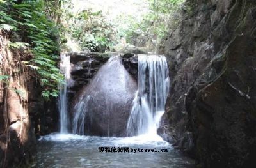
<path id="1" fill-rule="evenodd" d="M 111 57 L 100 67 L 90 84 L 77 95 L 71 108 L 74 134 L 67 134 L 67 91 L 72 80 L 69 57 L 61 56 L 60 69 L 65 74 L 65 84 L 60 84 L 61 134 L 40 137 L 36 167 L 195 167 L 192 160 L 173 150 L 156 133 L 168 93 L 165 57 L 139 56 L 138 61 L 139 87 L 122 65 L 121 57 Z M 129 135 L 138 136 L 124 137 L 126 128 Z M 101 153 L 101 146 L 130 149 L 127 153 Z M 168 152 L 160 152 L 163 149 Z"/>

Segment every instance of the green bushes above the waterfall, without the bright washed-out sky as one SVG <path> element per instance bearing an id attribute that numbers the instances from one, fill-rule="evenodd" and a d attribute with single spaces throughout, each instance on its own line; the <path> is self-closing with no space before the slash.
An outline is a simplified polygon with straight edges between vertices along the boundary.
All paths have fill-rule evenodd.
<path id="1" fill-rule="evenodd" d="M 179 8 L 184 0 L 148 0 L 150 8 L 144 17 L 119 13 L 115 19 L 109 19 L 108 13 L 90 9 L 74 13 L 70 10 L 68 33 L 79 43 L 82 50 L 104 52 L 124 36 L 127 42 L 139 47 L 156 49 L 168 30 L 168 20 L 173 11 Z M 72 8 L 72 5 L 69 7 Z M 136 11 L 134 11 L 136 12 Z M 142 40 L 140 43 L 138 41 Z M 149 44 L 148 44 L 149 43 Z"/>

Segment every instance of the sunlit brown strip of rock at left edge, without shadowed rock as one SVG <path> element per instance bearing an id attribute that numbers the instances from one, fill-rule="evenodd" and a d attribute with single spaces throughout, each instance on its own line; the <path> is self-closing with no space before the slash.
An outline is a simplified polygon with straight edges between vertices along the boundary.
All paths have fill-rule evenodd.
<path id="1" fill-rule="evenodd" d="M 0 82 L 0 167 L 14 167 L 28 164 L 36 141 L 28 113 L 28 75 L 19 65 L 20 55 L 7 49 L 1 54 L 0 75 L 8 74 L 8 79 Z"/>

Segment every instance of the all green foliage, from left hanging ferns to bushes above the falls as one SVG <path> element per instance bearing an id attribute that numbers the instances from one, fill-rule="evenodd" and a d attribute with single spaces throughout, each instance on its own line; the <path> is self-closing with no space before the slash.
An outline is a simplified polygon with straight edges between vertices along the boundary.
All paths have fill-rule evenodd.
<path id="1" fill-rule="evenodd" d="M 67 36 L 74 38 L 82 50 L 104 52 L 121 36 L 132 44 L 142 38 L 143 45 L 150 42 L 152 48 L 157 48 L 172 11 L 183 0 L 148 1 L 151 7 L 143 19 L 120 14 L 116 20 L 109 20 L 102 11 L 70 11 L 70 0 L 0 0 L 0 31 L 9 34 L 10 49 L 31 52 L 33 58 L 22 63 L 38 73 L 44 88 L 42 96 L 56 97 L 58 83 L 63 79 L 57 67 L 58 57 Z"/>

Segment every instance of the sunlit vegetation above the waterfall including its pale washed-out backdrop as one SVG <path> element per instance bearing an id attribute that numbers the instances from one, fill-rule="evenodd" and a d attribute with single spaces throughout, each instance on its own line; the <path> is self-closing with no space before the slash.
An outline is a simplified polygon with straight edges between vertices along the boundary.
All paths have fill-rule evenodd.
<path id="1" fill-rule="evenodd" d="M 121 37 L 132 45 L 155 50 L 168 30 L 168 20 L 182 2 L 183 0 L 123 0 L 120 4 L 127 6 L 122 8 L 115 1 L 108 1 L 109 4 L 104 5 L 104 8 L 95 9 L 100 3 L 88 1 L 85 6 L 73 0 L 68 5 L 65 25 L 82 50 L 111 50 L 120 42 Z M 115 10 L 114 5 L 117 5 Z"/>

